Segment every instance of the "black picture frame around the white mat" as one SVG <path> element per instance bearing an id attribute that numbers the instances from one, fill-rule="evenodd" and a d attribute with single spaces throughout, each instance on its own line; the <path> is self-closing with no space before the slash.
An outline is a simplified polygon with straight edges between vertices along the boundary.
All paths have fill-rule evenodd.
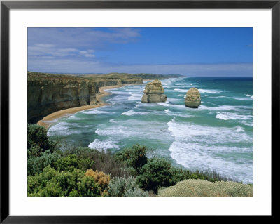
<path id="1" fill-rule="evenodd" d="M 248 1 L 1 1 L 1 223 L 134 223 L 158 222 L 157 216 L 10 216 L 9 213 L 9 11 L 10 9 L 271 9 L 272 10 L 272 153 L 279 150 L 280 0 Z M 272 156 L 272 164 L 273 162 Z M 272 165 L 273 167 L 273 165 Z M 273 171 L 273 169 L 272 169 Z M 272 175 L 273 176 L 273 175 Z M 273 181 L 272 181 L 273 185 Z M 273 197 L 272 197 L 273 199 Z M 272 216 L 274 214 L 272 209 Z M 267 216 L 267 217 L 272 217 Z M 178 216 L 177 216 L 178 217 Z M 204 216 L 205 220 L 215 220 Z M 243 217 L 244 218 L 244 217 Z M 235 218 L 234 218 L 235 219 Z M 171 221 L 174 218 L 166 217 Z"/>

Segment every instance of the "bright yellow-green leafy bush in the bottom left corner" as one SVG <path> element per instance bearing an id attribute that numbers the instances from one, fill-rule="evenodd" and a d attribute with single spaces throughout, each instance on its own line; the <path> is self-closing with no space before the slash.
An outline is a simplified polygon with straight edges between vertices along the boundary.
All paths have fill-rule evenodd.
<path id="1" fill-rule="evenodd" d="M 35 176 L 27 177 L 27 195 L 50 196 L 101 196 L 100 187 L 94 178 L 85 176 L 79 169 L 57 171 L 50 166 Z"/>

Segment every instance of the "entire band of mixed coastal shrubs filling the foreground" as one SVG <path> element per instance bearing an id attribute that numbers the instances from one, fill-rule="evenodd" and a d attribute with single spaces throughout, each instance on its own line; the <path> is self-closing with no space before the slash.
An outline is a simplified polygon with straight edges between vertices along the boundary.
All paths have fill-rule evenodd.
<path id="1" fill-rule="evenodd" d="M 251 185 L 172 166 L 155 151 L 133 145 L 116 154 L 50 140 L 27 125 L 28 196 L 252 196 Z M 208 190 L 206 190 L 208 189 Z"/>

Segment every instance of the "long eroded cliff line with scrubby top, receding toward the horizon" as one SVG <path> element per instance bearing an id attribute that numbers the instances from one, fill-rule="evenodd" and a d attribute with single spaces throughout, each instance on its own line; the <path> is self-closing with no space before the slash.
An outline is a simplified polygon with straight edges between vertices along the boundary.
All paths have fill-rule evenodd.
<path id="1" fill-rule="evenodd" d="M 48 114 L 71 107 L 97 104 L 99 87 L 143 84 L 143 79 L 106 79 L 59 74 L 27 73 L 27 122 L 36 123 Z"/>

